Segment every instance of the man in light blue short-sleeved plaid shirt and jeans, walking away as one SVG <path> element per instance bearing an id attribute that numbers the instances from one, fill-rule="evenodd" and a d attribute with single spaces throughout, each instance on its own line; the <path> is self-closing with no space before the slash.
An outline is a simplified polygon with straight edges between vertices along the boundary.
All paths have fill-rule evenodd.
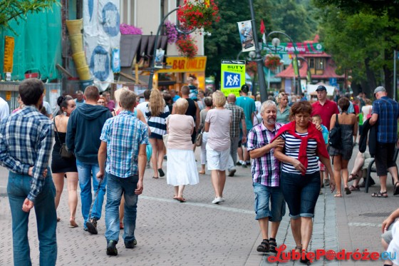
<path id="1" fill-rule="evenodd" d="M 107 255 L 118 255 L 116 244 L 119 240 L 119 205 L 125 195 L 125 218 L 123 219 L 123 241 L 126 248 L 137 245 L 135 225 L 138 195 L 142 193 L 148 145 L 148 129 L 133 114 L 136 95 L 133 91 L 120 93 L 118 116 L 105 121 L 101 132 L 98 163 L 100 170 L 97 178 L 104 178 L 106 173 L 107 204 L 105 205 L 105 238 L 107 239 Z M 106 168 L 105 168 L 106 160 Z"/>

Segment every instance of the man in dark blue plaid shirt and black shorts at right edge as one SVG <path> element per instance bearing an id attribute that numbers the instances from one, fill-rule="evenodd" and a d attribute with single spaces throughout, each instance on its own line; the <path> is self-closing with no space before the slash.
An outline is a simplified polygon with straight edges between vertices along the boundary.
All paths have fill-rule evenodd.
<path id="1" fill-rule="evenodd" d="M 369 121 L 372 126 L 378 122 L 375 168 L 377 168 L 377 175 L 380 177 L 381 189 L 378 193 L 371 195 L 375 198 L 388 198 L 386 189 L 387 171 L 392 175 L 395 183 L 393 195 L 399 194 L 398 167 L 393 160 L 398 140 L 399 105 L 393 99 L 388 98 L 387 95 L 383 86 L 375 88 L 374 96 L 377 100 L 373 103 L 373 115 Z"/>

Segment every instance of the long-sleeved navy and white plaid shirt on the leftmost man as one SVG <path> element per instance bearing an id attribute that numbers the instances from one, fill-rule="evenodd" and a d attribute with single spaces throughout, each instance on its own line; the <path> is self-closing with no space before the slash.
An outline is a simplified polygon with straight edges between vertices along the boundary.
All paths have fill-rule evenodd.
<path id="1" fill-rule="evenodd" d="M 11 172 L 28 175 L 33 166 L 33 178 L 28 199 L 33 201 L 41 192 L 53 143 L 53 123 L 37 108 L 25 106 L 1 121 L 0 164 Z"/>

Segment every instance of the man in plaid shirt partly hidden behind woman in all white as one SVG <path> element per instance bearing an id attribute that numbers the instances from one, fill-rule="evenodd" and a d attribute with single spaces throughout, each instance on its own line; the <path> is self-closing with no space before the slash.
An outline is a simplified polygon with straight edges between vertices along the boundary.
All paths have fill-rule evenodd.
<path id="1" fill-rule="evenodd" d="M 227 170 L 229 170 L 229 176 L 234 176 L 234 173 L 236 173 L 235 165 L 237 163 L 239 133 L 241 131 L 239 123 L 242 125 L 242 143 L 247 142 L 247 126 L 245 124 L 244 109 L 236 105 L 236 96 L 234 94 L 227 96 L 227 105 L 224 107 L 233 113 L 232 126 L 230 126 L 230 157 Z"/>

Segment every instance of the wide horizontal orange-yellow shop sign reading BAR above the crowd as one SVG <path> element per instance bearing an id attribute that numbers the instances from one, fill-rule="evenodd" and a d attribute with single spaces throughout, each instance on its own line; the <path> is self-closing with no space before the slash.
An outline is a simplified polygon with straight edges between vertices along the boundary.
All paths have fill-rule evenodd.
<path id="1" fill-rule="evenodd" d="M 160 69 L 157 73 L 203 72 L 207 66 L 207 56 L 196 56 L 195 58 L 168 56 L 166 66 L 167 68 Z"/>

